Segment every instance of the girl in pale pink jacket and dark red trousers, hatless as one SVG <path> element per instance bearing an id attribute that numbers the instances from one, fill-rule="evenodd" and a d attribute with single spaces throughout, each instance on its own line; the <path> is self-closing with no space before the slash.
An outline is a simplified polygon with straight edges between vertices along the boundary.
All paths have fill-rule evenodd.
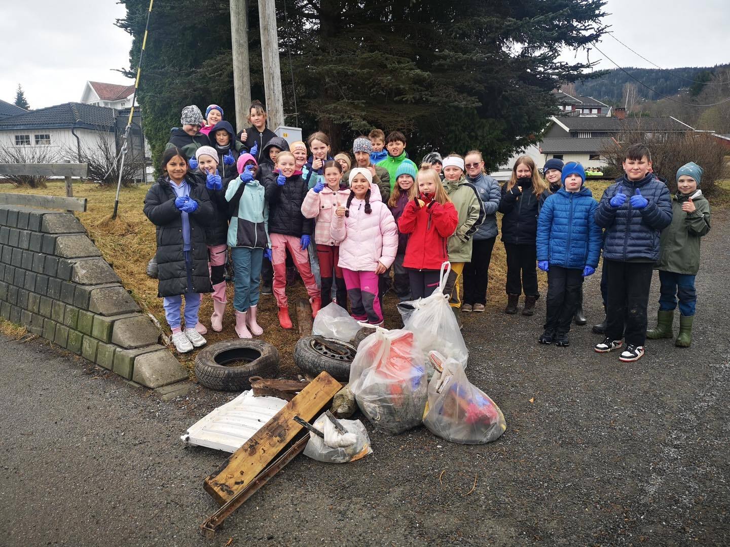
<path id="1" fill-rule="evenodd" d="M 337 304 L 347 309 L 347 289 L 342 276 L 339 262 L 339 242 L 332 238 L 329 227 L 334 212 L 340 205 L 345 205 L 350 196 L 350 190 L 341 189 L 342 166 L 337 161 L 330 160 L 323 166 L 324 179 L 320 179 L 301 203 L 301 214 L 305 218 L 316 218 L 315 244 L 317 257 L 320 263 L 320 278 L 322 279 L 322 307 L 332 301 L 332 272 L 337 279 Z"/>

